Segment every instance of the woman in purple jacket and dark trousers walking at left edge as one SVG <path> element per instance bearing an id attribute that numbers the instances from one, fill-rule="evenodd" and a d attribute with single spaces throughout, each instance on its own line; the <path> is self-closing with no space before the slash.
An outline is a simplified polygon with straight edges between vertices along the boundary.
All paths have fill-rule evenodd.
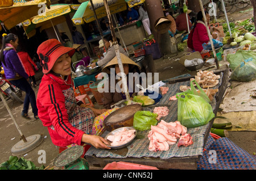
<path id="1" fill-rule="evenodd" d="M 2 49 L 0 53 L 0 60 L 5 71 L 5 77 L 14 86 L 19 87 L 20 90 L 26 92 L 24 99 L 22 117 L 29 119 L 28 107 L 31 104 L 32 112 L 35 119 L 38 119 L 38 108 L 36 107 L 36 96 L 34 90 L 28 83 L 28 74 L 23 68 L 22 62 L 16 53 L 15 48 L 18 47 L 18 36 L 13 33 L 3 33 Z"/>

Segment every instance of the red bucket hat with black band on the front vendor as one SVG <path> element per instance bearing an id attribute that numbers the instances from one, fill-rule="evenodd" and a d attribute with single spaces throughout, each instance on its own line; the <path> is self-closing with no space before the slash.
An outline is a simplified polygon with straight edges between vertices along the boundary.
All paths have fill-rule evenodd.
<path id="1" fill-rule="evenodd" d="M 39 45 L 37 52 L 40 63 L 43 67 L 43 73 L 47 74 L 52 69 L 57 58 L 68 53 L 69 57 L 72 57 L 75 53 L 74 48 L 64 47 L 60 41 L 56 39 L 49 39 Z"/>

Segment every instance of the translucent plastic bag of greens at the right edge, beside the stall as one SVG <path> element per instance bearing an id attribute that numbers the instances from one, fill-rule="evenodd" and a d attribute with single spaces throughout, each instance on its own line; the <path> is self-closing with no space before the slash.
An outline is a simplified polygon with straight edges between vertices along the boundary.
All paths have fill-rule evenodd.
<path id="1" fill-rule="evenodd" d="M 253 63 L 253 58 L 248 58 L 242 61 L 240 65 L 230 75 L 234 81 L 250 82 L 256 79 L 256 65 Z"/>

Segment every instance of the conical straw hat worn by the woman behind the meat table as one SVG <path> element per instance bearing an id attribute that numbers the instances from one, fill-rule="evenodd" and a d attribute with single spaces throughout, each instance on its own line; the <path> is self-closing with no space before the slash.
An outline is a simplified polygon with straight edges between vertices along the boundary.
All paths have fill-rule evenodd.
<path id="1" fill-rule="evenodd" d="M 125 56 L 123 53 L 120 53 L 120 57 L 123 64 L 136 65 L 138 66 L 139 69 L 141 69 L 141 67 L 138 64 L 136 64 L 129 57 Z M 118 60 L 117 60 L 117 56 L 115 56 L 110 62 L 108 62 L 108 64 L 102 69 L 102 71 L 105 73 L 110 73 L 110 68 L 113 68 L 113 65 L 117 65 L 117 64 L 118 64 Z"/>

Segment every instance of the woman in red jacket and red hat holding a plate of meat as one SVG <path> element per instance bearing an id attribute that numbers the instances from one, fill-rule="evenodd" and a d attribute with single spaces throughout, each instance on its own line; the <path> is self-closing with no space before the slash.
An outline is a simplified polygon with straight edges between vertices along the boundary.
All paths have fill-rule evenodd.
<path id="1" fill-rule="evenodd" d="M 104 138 L 90 134 L 97 127 L 94 117 L 106 110 L 86 106 L 75 97 L 71 79 L 74 52 L 75 49 L 64 47 L 56 39 L 39 45 L 37 53 L 44 75 L 37 95 L 38 116 L 56 146 L 90 144 L 110 149 Z"/>

